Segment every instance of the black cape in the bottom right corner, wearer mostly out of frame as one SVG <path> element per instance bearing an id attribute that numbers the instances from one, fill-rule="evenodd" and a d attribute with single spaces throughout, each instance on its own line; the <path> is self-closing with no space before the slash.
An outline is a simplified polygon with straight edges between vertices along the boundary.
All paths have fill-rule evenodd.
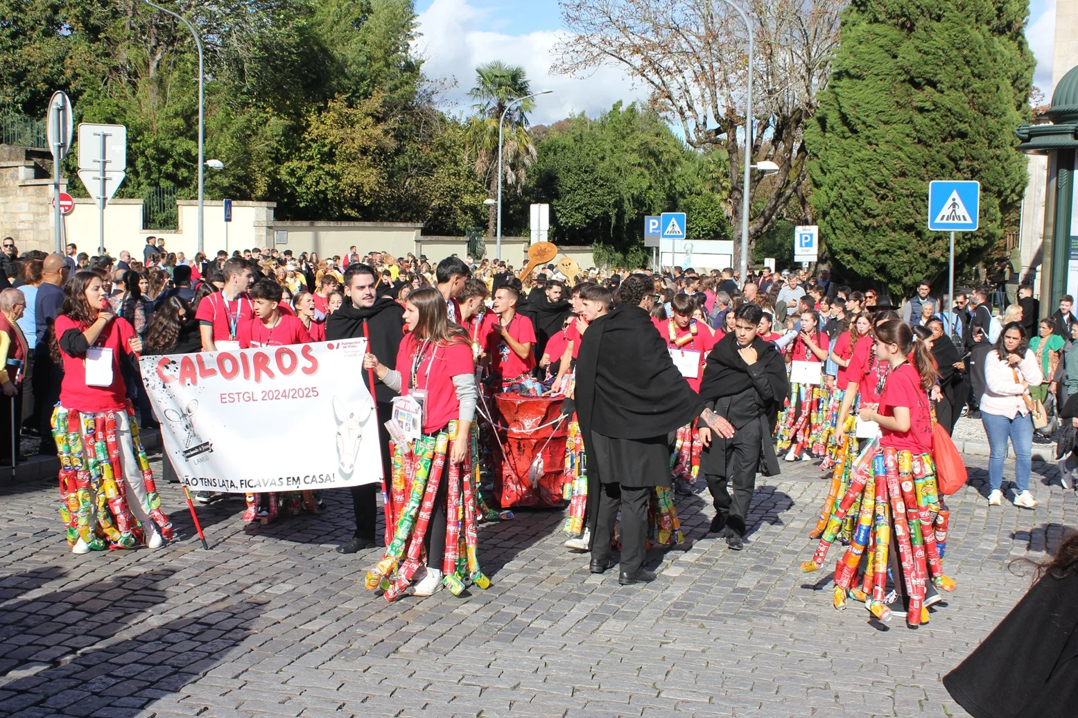
<path id="1" fill-rule="evenodd" d="M 975 718 L 1074 716 L 1078 572 L 1046 576 L 962 664 L 943 676 Z"/>

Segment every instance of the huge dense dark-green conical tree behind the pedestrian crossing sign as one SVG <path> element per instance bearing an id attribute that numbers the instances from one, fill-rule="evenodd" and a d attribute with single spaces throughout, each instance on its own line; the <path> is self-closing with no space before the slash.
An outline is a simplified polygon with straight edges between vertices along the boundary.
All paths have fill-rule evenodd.
<path id="1" fill-rule="evenodd" d="M 1034 58 L 1025 0 L 854 0 L 820 107 L 805 130 L 812 205 L 826 254 L 849 279 L 907 292 L 945 270 L 927 229 L 928 182 L 981 182 L 980 230 L 956 237 L 976 260 L 1019 205 Z"/>

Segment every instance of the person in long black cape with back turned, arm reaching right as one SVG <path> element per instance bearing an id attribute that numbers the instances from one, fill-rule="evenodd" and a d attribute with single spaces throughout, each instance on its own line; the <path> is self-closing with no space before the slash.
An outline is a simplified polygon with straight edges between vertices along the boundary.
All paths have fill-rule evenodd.
<path id="1" fill-rule="evenodd" d="M 614 565 L 610 539 L 621 506 L 622 584 L 654 580 L 644 570 L 648 505 L 671 485 L 674 432 L 701 413 L 701 402 L 674 365 L 665 343 L 639 306 L 651 280 L 631 275 L 618 306 L 584 332 L 577 359 L 576 404 L 588 458 L 591 570 Z M 721 422 L 717 429 L 732 434 Z"/>

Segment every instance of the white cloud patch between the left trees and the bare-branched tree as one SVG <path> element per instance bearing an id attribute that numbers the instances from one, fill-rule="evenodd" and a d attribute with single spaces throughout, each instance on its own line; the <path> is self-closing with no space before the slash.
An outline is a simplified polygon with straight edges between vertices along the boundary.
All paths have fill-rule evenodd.
<path id="1" fill-rule="evenodd" d="M 423 67 L 428 78 L 456 82 L 455 87 L 443 93 L 452 111 L 470 113 L 468 91 L 474 84 L 475 67 L 496 59 L 524 67 L 533 91 L 554 91 L 536 101 L 533 124 L 556 122 L 578 112 L 595 116 L 618 100 L 627 103 L 647 97 L 647 92 L 639 85 L 634 87 L 618 68 L 600 67 L 588 78 L 552 73 L 550 68 L 556 59 L 553 50 L 563 30 L 513 36 L 487 29 L 495 25 L 488 11 L 468 0 L 434 0 L 419 14 L 421 34 L 413 47 L 425 58 Z"/>

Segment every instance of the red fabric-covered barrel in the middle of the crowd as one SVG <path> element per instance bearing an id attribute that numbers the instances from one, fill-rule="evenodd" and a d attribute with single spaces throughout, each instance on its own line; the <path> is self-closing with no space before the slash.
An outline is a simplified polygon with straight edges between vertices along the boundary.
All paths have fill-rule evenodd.
<path id="1" fill-rule="evenodd" d="M 565 439 L 568 422 L 551 425 L 562 412 L 563 398 L 526 397 L 520 393 L 498 393 L 498 429 L 506 456 L 495 474 L 494 492 L 502 509 L 531 506 L 559 507 L 565 503 L 562 485 L 565 482 Z M 536 427 L 542 427 L 536 429 Z M 548 443 L 549 440 L 549 443 Z M 542 452 L 543 470 L 533 486 L 531 464 Z"/>

